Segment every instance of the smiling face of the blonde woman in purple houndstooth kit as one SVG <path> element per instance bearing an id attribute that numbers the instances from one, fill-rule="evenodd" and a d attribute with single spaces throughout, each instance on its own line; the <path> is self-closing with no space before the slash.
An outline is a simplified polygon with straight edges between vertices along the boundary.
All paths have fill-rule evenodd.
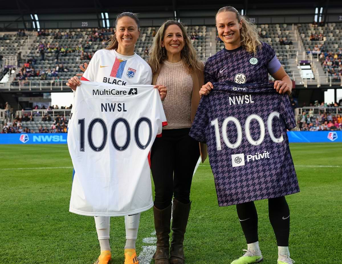
<path id="1" fill-rule="evenodd" d="M 220 39 L 224 42 L 227 50 L 233 50 L 239 47 L 240 44 L 240 23 L 233 12 L 221 12 L 216 16 L 216 28 Z"/>

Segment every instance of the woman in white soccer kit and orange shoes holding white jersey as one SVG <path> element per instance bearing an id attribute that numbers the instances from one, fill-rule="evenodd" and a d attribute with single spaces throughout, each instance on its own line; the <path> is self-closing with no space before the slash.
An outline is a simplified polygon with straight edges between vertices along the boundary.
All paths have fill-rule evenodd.
<path id="1" fill-rule="evenodd" d="M 133 13 L 119 14 L 116 19 L 115 34 L 106 49 L 98 50 L 81 77 L 81 81 L 110 83 L 115 85 L 143 85 L 152 83 L 152 70 L 139 55 L 134 53 L 134 45 L 139 37 L 139 19 Z M 78 77 L 68 80 L 67 85 L 76 90 L 80 85 Z M 159 89 L 163 100 L 167 89 Z M 150 181 L 150 179 L 147 179 Z M 127 186 L 129 188 L 129 186 Z M 139 228 L 140 213 L 125 216 L 126 245 L 125 264 L 137 264 L 135 241 Z M 101 254 L 96 264 L 107 264 L 111 260 L 109 246 L 110 217 L 95 217 L 96 231 L 100 241 Z"/>

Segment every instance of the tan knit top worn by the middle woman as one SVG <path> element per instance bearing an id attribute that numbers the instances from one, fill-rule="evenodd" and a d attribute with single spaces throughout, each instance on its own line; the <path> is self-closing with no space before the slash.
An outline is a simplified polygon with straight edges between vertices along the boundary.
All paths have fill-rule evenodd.
<path id="1" fill-rule="evenodd" d="M 168 125 L 163 129 L 191 127 L 191 98 L 193 81 L 182 61 L 172 63 L 165 60 L 156 81 L 165 85 L 168 93 L 163 101 L 163 108 Z"/>

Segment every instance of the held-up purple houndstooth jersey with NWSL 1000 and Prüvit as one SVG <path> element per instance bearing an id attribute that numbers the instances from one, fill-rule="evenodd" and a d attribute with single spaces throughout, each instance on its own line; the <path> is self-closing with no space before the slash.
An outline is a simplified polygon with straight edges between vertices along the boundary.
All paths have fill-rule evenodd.
<path id="1" fill-rule="evenodd" d="M 207 143 L 219 206 L 299 192 L 286 129 L 296 126 L 274 83 L 214 83 L 190 136 Z"/>

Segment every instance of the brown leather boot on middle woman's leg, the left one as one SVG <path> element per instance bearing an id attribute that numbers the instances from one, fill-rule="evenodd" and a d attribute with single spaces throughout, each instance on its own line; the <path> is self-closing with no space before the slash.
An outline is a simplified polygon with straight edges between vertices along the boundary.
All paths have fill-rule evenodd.
<path id="1" fill-rule="evenodd" d="M 163 210 L 153 207 L 154 226 L 157 236 L 157 250 L 153 255 L 155 264 L 169 264 L 171 210 L 171 204 Z"/>

